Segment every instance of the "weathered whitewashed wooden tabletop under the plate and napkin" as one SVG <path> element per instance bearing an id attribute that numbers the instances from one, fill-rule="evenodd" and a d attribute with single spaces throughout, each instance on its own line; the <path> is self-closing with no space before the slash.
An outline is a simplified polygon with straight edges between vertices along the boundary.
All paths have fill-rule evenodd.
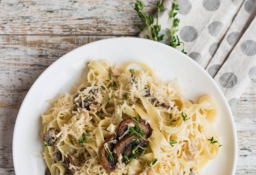
<path id="1" fill-rule="evenodd" d="M 155 0 L 145 0 L 148 11 Z M 14 174 L 13 127 L 23 97 L 62 55 L 95 40 L 137 36 L 133 0 L 0 0 L 0 174 Z M 236 174 L 256 174 L 256 80 L 234 110 Z M 225 175 L 225 174 L 223 174 Z"/>

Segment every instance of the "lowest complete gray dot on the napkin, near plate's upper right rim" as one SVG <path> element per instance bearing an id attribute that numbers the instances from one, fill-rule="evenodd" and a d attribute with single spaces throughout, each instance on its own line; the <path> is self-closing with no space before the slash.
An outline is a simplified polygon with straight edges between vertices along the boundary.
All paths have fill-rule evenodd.
<path id="1" fill-rule="evenodd" d="M 219 84 L 225 88 L 233 88 L 237 84 L 237 76 L 232 72 L 223 73 L 219 78 Z"/>

